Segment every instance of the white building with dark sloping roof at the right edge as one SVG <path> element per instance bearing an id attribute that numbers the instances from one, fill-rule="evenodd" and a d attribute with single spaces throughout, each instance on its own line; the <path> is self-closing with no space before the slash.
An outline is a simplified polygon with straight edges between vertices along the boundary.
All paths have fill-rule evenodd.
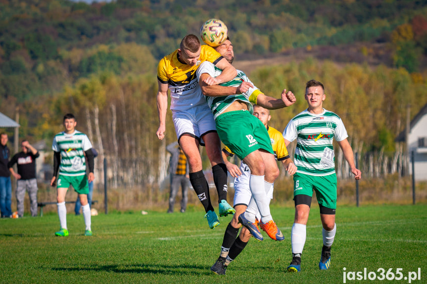
<path id="1" fill-rule="evenodd" d="M 405 142 L 406 129 L 400 132 L 396 138 L 397 142 Z M 417 181 L 427 180 L 427 104 L 414 117 L 410 123 L 408 135 L 408 154 L 412 157 L 414 152 L 415 179 Z M 409 165 L 412 174 L 412 158 Z"/>

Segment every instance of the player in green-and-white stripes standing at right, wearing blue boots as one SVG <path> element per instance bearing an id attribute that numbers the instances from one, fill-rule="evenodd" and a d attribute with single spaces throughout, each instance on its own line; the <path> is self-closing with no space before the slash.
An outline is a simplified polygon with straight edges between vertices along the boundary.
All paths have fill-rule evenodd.
<path id="1" fill-rule="evenodd" d="M 323 108 L 325 88 L 319 81 L 306 83 L 305 100 L 308 108 L 295 116 L 286 126 L 285 144 L 296 139 L 295 164 L 298 170 L 293 175 L 295 220 L 292 226 L 292 262 L 289 272 L 301 270 L 301 253 L 306 240 L 306 225 L 310 212 L 313 191 L 320 207 L 323 247 L 319 268 L 326 270 L 331 265 L 331 246 L 335 238 L 336 174 L 332 141 L 335 138 L 350 165 L 355 179 L 361 178 L 356 168 L 353 150 L 347 141 L 347 131 L 341 119 Z"/>

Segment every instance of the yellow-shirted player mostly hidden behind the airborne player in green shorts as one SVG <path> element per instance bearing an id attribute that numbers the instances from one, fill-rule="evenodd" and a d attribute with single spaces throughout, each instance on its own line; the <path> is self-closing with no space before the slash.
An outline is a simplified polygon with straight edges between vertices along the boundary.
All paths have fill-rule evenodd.
<path id="1" fill-rule="evenodd" d="M 261 106 L 254 105 L 253 115 L 257 117 L 266 127 L 268 135 L 270 136 L 276 160 L 283 163 L 284 168 L 290 175 L 294 174 L 297 168 L 289 158 L 282 133 L 268 125 L 268 122 L 271 120 L 270 111 Z M 233 155 L 234 154 L 227 146 L 223 149 L 223 158 L 224 161 L 226 161 L 225 163 L 227 165 L 227 169 L 232 176 L 236 177 L 234 182 L 234 207 L 236 209 L 236 216 L 245 212 L 246 215 L 253 214 L 258 220 L 260 220 L 261 216 L 259 214 L 258 207 L 254 202 L 249 189 L 249 166 L 247 166 L 244 162 L 240 162 L 240 167 L 238 167 L 237 165 L 228 162 L 227 156 L 232 157 Z M 270 191 L 267 193 L 267 195 L 269 200 L 273 198 L 273 187 L 270 188 Z M 229 223 L 224 234 L 224 239 L 221 246 L 221 255 L 215 264 L 211 267 L 212 272 L 220 275 L 225 274 L 227 266 L 237 257 L 237 255 L 249 242 L 251 233 L 246 227 L 242 227 L 240 234 L 236 239 L 236 235 L 240 227 L 241 224 L 238 223 L 237 218 L 233 218 L 233 220 Z"/>

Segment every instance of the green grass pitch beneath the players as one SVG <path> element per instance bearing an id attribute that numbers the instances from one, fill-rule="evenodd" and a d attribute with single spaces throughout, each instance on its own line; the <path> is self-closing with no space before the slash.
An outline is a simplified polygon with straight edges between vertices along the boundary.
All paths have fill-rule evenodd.
<path id="1" fill-rule="evenodd" d="M 319 208 L 307 224 L 302 271 L 285 273 L 290 262 L 293 208 L 272 207 L 286 239 L 251 238 L 226 276 L 209 270 L 217 259 L 231 217 L 210 230 L 202 211 L 167 214 L 149 211 L 92 217 L 94 236 L 85 237 L 83 216 L 67 215 L 70 236 L 55 237 L 56 214 L 0 220 L 0 283 L 343 283 L 346 272 L 385 273 L 421 269 L 427 278 L 427 206 L 338 207 L 332 267 L 320 271 L 322 247 Z M 385 274 L 384 273 L 384 274 Z M 380 275 L 377 272 L 377 275 Z M 409 280 L 347 280 L 346 283 L 408 283 Z"/>

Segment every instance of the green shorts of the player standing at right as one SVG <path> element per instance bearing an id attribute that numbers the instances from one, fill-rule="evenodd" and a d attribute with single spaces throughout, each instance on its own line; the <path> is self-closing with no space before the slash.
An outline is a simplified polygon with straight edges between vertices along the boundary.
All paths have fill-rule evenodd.
<path id="1" fill-rule="evenodd" d="M 335 173 L 325 176 L 313 176 L 297 172 L 293 175 L 294 197 L 299 194 L 312 197 L 313 190 L 316 192 L 316 198 L 319 205 L 336 209 Z"/>

